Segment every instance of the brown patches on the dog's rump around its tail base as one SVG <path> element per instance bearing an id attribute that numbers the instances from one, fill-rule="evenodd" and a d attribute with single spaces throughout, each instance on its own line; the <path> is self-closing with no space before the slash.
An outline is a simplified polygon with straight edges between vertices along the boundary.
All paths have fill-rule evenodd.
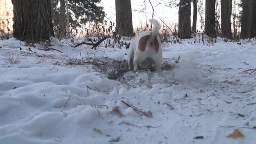
<path id="1" fill-rule="evenodd" d="M 145 51 L 146 48 L 152 48 L 156 51 L 159 50 L 159 41 L 157 40 L 157 35 L 153 35 L 150 33 L 149 35 L 145 35 L 139 40 L 139 50 Z"/>

